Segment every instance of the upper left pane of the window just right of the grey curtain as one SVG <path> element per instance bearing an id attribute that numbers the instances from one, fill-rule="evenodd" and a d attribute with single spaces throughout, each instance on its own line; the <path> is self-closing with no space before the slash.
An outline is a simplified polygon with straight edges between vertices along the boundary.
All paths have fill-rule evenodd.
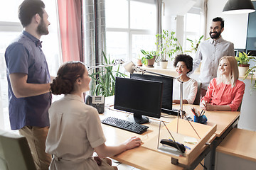
<path id="1" fill-rule="evenodd" d="M 127 0 L 106 0 L 106 27 L 128 28 Z"/>

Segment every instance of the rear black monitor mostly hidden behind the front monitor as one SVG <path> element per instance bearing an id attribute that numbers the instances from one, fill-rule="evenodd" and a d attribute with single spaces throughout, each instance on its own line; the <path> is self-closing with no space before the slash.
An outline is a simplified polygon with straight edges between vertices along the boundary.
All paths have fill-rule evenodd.
<path id="1" fill-rule="evenodd" d="M 154 76 L 154 75 L 149 75 L 149 74 L 131 74 L 130 77 L 131 77 L 131 79 L 144 79 L 144 80 L 163 82 L 163 96 L 162 96 L 161 112 L 171 114 L 172 98 L 173 98 L 173 84 L 174 84 L 173 78 Z"/>

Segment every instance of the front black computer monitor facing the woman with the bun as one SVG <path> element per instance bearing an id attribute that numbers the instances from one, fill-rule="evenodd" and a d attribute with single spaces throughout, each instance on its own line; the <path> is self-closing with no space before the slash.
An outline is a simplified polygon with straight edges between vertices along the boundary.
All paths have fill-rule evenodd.
<path id="1" fill-rule="evenodd" d="M 161 116 L 162 91 L 163 83 L 159 81 L 116 77 L 114 109 L 134 113 L 136 123 L 147 123 L 146 116 Z"/>

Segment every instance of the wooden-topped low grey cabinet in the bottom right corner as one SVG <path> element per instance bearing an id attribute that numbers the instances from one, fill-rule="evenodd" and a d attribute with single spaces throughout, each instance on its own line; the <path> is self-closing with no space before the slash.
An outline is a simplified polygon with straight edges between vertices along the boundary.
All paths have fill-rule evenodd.
<path id="1" fill-rule="evenodd" d="M 216 169 L 255 169 L 256 132 L 234 128 L 216 149 Z"/>

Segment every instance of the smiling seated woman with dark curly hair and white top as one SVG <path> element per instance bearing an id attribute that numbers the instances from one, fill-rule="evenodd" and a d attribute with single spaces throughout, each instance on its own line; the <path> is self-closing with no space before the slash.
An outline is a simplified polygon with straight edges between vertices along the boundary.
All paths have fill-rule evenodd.
<path id="1" fill-rule="evenodd" d="M 198 89 L 197 81 L 187 76 L 193 69 L 193 58 L 189 55 L 177 55 L 174 59 L 174 67 L 183 81 L 183 103 L 193 104 Z M 173 103 L 180 103 L 180 89 L 179 81 L 174 79 Z"/>

